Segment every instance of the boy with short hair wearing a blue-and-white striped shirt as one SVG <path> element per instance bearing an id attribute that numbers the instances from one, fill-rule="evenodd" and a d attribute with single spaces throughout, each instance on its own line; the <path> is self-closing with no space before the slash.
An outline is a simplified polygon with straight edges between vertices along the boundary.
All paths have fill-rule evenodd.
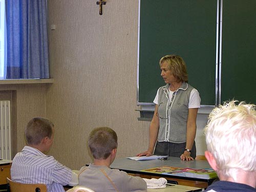
<path id="1" fill-rule="evenodd" d="M 28 122 L 25 129 L 27 145 L 15 155 L 11 166 L 11 179 L 18 183 L 42 183 L 49 192 L 65 192 L 63 185 L 77 185 L 72 170 L 47 153 L 53 143 L 53 123 L 41 117 Z"/>

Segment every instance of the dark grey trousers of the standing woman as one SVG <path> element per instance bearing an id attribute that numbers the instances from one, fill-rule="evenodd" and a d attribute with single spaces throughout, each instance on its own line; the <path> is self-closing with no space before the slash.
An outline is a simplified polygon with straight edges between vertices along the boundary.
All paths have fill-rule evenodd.
<path id="1" fill-rule="evenodd" d="M 156 143 L 154 155 L 168 155 L 172 157 L 180 157 L 184 153 L 186 143 L 171 143 L 171 142 L 158 142 Z M 196 158 L 197 148 L 196 142 L 194 141 L 191 149 L 190 157 Z"/>

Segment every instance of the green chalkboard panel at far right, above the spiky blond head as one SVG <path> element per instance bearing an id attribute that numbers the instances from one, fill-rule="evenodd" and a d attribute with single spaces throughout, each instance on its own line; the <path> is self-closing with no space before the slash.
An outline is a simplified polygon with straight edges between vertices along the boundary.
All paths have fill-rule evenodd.
<path id="1" fill-rule="evenodd" d="M 221 102 L 256 103 L 256 1 L 223 1 Z"/>

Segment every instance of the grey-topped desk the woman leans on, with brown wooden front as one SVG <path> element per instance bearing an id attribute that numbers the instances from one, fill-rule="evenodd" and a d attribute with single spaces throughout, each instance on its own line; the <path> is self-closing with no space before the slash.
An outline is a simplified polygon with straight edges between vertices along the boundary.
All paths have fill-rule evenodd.
<path id="1" fill-rule="evenodd" d="M 182 168 L 210 168 L 209 163 L 206 160 L 194 160 L 194 161 L 182 161 L 179 157 L 168 157 L 168 160 L 145 160 L 136 161 L 131 159 L 115 159 L 115 161 L 110 165 L 110 168 L 117 168 L 123 170 L 126 173 L 136 174 L 143 178 L 160 178 L 164 177 L 167 180 L 178 181 L 180 185 L 194 186 L 200 188 L 206 188 L 215 179 L 198 179 L 198 178 L 188 178 L 180 176 L 170 176 L 162 175 L 158 173 L 146 173 L 141 172 L 142 169 L 161 167 L 161 166 L 172 166 L 172 167 L 182 167 Z"/>

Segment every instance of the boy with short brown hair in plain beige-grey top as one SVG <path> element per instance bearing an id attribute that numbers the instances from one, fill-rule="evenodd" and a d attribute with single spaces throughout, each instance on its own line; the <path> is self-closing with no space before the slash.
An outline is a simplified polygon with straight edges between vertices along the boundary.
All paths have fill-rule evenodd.
<path id="1" fill-rule="evenodd" d="M 95 128 L 89 136 L 94 163 L 80 169 L 79 185 L 95 191 L 147 191 L 146 182 L 118 169 L 111 169 L 117 152 L 117 135 L 109 127 Z"/>

